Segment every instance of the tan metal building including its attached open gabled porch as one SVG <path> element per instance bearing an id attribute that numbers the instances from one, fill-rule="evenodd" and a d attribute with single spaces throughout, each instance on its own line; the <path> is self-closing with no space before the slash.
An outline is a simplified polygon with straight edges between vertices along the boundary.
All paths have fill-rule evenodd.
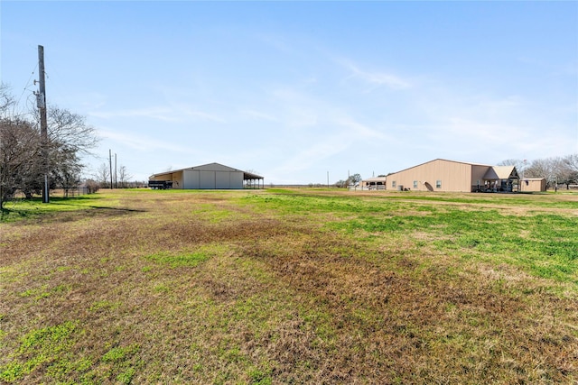
<path id="1" fill-rule="evenodd" d="M 514 166 L 488 166 L 436 159 L 387 175 L 387 189 L 412 191 L 515 191 Z"/>

